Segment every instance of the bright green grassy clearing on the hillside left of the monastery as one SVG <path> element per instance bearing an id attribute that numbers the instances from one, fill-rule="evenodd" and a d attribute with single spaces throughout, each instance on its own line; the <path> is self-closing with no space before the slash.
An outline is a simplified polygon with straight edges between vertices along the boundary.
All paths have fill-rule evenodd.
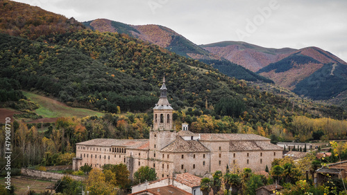
<path id="1" fill-rule="evenodd" d="M 67 106 L 62 102 L 58 102 L 57 100 L 53 100 L 49 97 L 43 97 L 41 95 L 36 95 L 34 93 L 30 93 L 27 91 L 23 91 L 23 94 L 40 104 L 40 108 L 35 110 L 37 115 L 42 115 L 44 118 L 58 118 L 58 117 L 71 117 L 76 116 L 78 118 L 83 118 L 87 115 L 104 115 L 101 112 L 92 111 L 89 109 L 78 109 Z"/>

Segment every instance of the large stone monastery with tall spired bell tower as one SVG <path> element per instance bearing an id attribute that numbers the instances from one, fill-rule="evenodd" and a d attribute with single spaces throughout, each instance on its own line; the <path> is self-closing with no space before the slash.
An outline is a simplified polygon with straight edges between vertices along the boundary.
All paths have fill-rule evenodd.
<path id="1" fill-rule="evenodd" d="M 271 169 L 273 159 L 282 158 L 281 147 L 254 134 L 199 134 L 189 131 L 186 123 L 182 131 L 176 132 L 173 111 L 163 80 L 148 140 L 94 139 L 77 143 L 73 168 L 124 163 L 131 176 L 142 166 L 155 168 L 158 178 L 184 172 L 206 176 L 217 170 L 225 171 L 226 165 L 264 171 L 266 165 Z"/>

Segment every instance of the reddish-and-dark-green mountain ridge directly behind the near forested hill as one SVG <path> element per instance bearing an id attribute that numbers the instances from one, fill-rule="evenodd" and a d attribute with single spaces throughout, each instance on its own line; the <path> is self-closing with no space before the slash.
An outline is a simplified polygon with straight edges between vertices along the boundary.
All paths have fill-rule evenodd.
<path id="1" fill-rule="evenodd" d="M 214 64 L 214 68 L 218 68 L 221 73 L 230 77 L 248 81 L 260 80 L 263 82 L 272 82 L 266 77 L 262 77 L 256 73 L 251 73 L 250 71 L 239 67 L 237 64 L 228 63 L 221 57 L 212 55 L 207 50 L 192 43 L 192 41 L 179 35 L 174 30 L 164 26 L 153 24 L 134 26 L 118 21 L 111 21 L 109 19 L 95 19 L 93 21 L 85 21 L 83 24 L 92 30 L 99 30 L 100 32 L 119 32 L 121 34 L 129 35 L 130 37 L 148 41 L 149 43 L 162 48 L 166 48 L 178 55 L 199 59 L 201 62 L 207 64 Z M 220 62 L 218 62 L 219 60 Z"/>

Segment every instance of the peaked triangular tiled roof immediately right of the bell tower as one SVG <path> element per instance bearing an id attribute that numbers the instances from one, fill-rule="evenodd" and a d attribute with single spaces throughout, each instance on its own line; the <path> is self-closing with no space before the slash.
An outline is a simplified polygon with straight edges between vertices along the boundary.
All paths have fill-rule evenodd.
<path id="1" fill-rule="evenodd" d="M 196 152 L 210 150 L 202 145 L 198 140 L 184 140 L 181 136 L 176 136 L 176 140 L 164 147 L 161 151 Z"/>

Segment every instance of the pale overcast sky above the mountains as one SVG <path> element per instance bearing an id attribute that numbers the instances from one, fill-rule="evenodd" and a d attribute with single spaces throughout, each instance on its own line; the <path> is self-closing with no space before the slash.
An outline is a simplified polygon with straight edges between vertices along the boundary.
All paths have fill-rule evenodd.
<path id="1" fill-rule="evenodd" d="M 159 24 L 195 44 L 317 46 L 347 62 L 346 0 L 17 0 L 78 21 Z"/>

